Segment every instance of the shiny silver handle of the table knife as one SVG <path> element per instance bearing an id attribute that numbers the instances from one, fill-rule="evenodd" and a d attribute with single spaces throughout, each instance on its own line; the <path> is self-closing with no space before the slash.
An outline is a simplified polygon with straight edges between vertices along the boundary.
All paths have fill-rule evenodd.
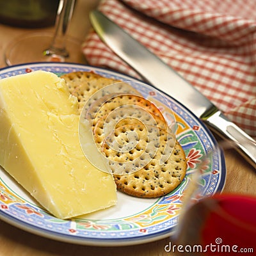
<path id="1" fill-rule="evenodd" d="M 221 138 L 235 143 L 236 150 L 241 156 L 252 164 L 256 170 L 256 141 L 253 140 L 246 132 L 240 129 L 237 125 L 230 122 L 228 118 L 220 111 L 217 111 L 205 120 L 205 124 L 210 129 L 214 130 Z"/>

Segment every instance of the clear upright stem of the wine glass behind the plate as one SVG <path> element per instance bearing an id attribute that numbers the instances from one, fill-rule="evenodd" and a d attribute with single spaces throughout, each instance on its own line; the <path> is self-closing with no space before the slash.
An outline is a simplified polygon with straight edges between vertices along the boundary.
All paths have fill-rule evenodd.
<path id="1" fill-rule="evenodd" d="M 56 15 L 54 36 L 51 45 L 44 51 L 44 55 L 54 55 L 62 58 L 68 57 L 69 54 L 66 49 L 65 36 L 74 10 L 75 1 L 76 0 L 60 0 Z"/>

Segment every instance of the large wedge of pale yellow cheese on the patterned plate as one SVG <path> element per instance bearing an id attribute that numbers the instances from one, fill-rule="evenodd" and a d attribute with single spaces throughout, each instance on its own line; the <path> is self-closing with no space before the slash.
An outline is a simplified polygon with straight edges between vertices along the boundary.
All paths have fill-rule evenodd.
<path id="1" fill-rule="evenodd" d="M 86 160 L 78 126 L 77 99 L 55 74 L 0 80 L 0 164 L 61 219 L 116 204 L 113 177 Z"/>

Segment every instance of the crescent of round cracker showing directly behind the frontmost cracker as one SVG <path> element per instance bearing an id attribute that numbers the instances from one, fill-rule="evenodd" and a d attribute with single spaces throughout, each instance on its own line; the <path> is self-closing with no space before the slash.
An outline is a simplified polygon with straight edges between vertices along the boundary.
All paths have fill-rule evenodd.
<path id="1" fill-rule="evenodd" d="M 167 129 L 161 111 L 150 101 L 137 95 L 115 95 L 99 109 L 93 109 L 91 117 L 93 136 L 98 147 L 101 147 L 111 132 L 123 125 L 136 125 L 135 128 L 147 125 L 148 131 L 150 126 Z"/>

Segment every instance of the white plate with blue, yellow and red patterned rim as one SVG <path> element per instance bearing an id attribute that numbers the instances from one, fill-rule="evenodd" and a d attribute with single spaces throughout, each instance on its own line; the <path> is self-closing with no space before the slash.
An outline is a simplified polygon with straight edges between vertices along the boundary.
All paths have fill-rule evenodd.
<path id="1" fill-rule="evenodd" d="M 105 77 L 123 81 L 138 81 L 132 77 L 104 68 L 71 63 L 32 63 L 3 68 L 0 78 L 24 74 L 34 70 L 47 70 L 58 74 L 78 70 L 93 71 Z M 140 88 L 136 88 L 140 90 Z M 142 92 L 141 92 L 142 93 Z M 156 97 L 154 93 L 143 95 Z M 85 215 L 83 218 L 60 220 L 55 218 L 31 198 L 24 189 L 0 168 L 0 218 L 16 227 L 40 236 L 68 243 L 123 246 L 156 241 L 173 233 L 182 207 L 184 188 L 189 182 L 191 169 L 205 152 L 216 145 L 211 132 L 196 116 L 179 102 L 168 97 L 178 124 L 177 140 L 188 159 L 188 171 L 180 186 L 172 193 L 156 199 L 134 198 L 118 192 L 118 204 L 104 211 Z M 167 106 L 162 106 L 168 108 Z M 20 170 L 22 172 L 22 170 Z M 225 184 L 225 161 L 217 152 L 203 175 L 201 186 L 204 195 L 221 191 Z"/>

